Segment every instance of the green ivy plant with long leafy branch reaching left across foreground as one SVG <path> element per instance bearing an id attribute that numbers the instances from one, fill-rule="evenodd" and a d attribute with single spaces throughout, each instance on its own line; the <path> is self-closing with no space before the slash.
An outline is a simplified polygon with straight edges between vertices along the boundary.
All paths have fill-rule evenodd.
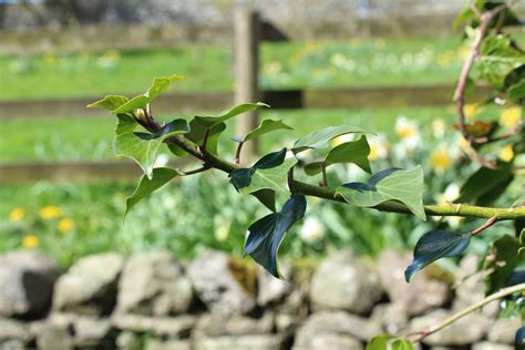
<path id="1" fill-rule="evenodd" d="M 133 158 L 145 173 L 135 193 L 126 200 L 126 214 L 138 200 L 175 178 L 182 177 L 184 181 L 185 176 L 213 168 L 222 171 L 229 176 L 236 191 L 254 196 L 270 210 L 270 214 L 248 227 L 244 253 L 276 277 L 280 277 L 277 262 L 279 246 L 286 233 L 305 216 L 307 197 L 380 212 L 413 214 L 421 220 L 425 220 L 428 216 L 486 219 L 478 228 L 462 233 L 440 227 L 425 233 L 418 240 L 414 259 L 405 270 L 408 282 L 429 264 L 462 254 L 473 237 L 496 223 L 514 220 L 517 231 L 522 233 L 519 240 L 504 236 L 492 244 L 493 258 L 502 259 L 505 268 L 490 264 L 485 267 L 491 270 L 487 279 L 487 292 L 491 295 L 442 323 L 406 338 L 413 337 L 414 341 L 421 341 L 495 299 L 514 298 L 519 305 L 518 294 L 525 290 L 525 282 L 523 274 L 519 275 L 519 270 L 516 270 L 519 268 L 516 256 L 523 256 L 524 251 L 522 245 L 525 244 L 525 229 L 522 229 L 521 220 L 525 218 L 525 206 L 508 208 L 490 205 L 505 192 L 519 172 L 519 165 L 515 162 L 518 162 L 516 155 L 523 154 L 525 147 L 523 122 L 518 120 L 512 127 L 497 122 L 467 122 L 465 105 L 469 87 L 473 86 L 474 81 L 485 81 L 494 87 L 494 96 L 487 103 L 518 107 L 525 100 L 524 53 L 512 35 L 503 32 L 507 25 L 515 24 L 517 19 L 505 3 L 480 0 L 462 16 L 462 20 L 470 22 L 465 32 L 472 50 L 466 55 L 454 94 L 459 117 L 456 127 L 463 136 L 463 151 L 467 158 L 481 167 L 466 179 L 459 198 L 454 200 L 456 204 L 423 204 L 425 185 L 421 165 L 403 169 L 393 164 L 372 173 L 369 140 L 374 137 L 374 133 L 358 126 L 340 125 L 313 131 L 298 138 L 289 150 L 285 147 L 271 152 L 250 166 L 240 165 L 240 150 L 246 142 L 289 128 L 281 121 L 266 120 L 247 135 L 234 138 L 237 151 L 235 158 L 228 161 L 220 156 L 217 147 L 218 138 L 226 128 L 225 122 L 268 105 L 246 103 L 218 115 L 196 115 L 189 123 L 184 119 L 176 119 L 161 124 L 151 112 L 151 103 L 171 83 L 182 79 L 179 75 L 172 75 L 155 79 L 146 93 L 133 99 L 110 95 L 90 105 L 106 109 L 116 115 L 115 154 Z M 474 65 L 475 74 L 471 74 Z M 332 143 L 346 135 L 350 135 L 349 140 Z M 496 161 L 492 151 L 501 144 L 509 148 L 503 159 Z M 156 153 L 164 145 L 176 156 L 196 158 L 203 163 L 202 166 L 191 171 L 154 167 Z M 302 157 L 305 152 L 310 155 Z M 354 164 L 370 176 L 364 182 L 347 181 L 333 186 L 328 172 L 338 164 Z M 305 174 L 299 174 L 300 168 Z M 319 179 L 318 185 L 311 184 L 312 176 Z M 508 284 L 514 286 L 506 287 Z M 517 332 L 519 347 L 523 347 L 524 332 L 525 330 Z M 413 349 L 413 346 L 408 339 L 381 336 L 373 339 L 368 349 Z"/>

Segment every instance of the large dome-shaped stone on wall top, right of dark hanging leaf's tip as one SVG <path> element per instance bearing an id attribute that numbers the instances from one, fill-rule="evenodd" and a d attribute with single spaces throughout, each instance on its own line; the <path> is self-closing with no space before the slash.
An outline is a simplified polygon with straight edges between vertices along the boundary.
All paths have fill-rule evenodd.
<path id="1" fill-rule="evenodd" d="M 311 280 L 310 300 L 315 309 L 367 313 L 381 295 L 375 269 L 349 249 L 322 261 Z"/>

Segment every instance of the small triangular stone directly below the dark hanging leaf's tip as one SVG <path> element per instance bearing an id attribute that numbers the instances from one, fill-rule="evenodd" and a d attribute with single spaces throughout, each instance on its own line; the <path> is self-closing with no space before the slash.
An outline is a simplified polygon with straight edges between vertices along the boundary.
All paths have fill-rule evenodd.
<path id="1" fill-rule="evenodd" d="M 292 290 L 291 285 L 286 281 L 291 277 L 291 268 L 284 264 L 280 270 L 285 280 L 275 278 L 261 267 L 258 268 L 257 303 L 260 307 L 281 301 Z"/>

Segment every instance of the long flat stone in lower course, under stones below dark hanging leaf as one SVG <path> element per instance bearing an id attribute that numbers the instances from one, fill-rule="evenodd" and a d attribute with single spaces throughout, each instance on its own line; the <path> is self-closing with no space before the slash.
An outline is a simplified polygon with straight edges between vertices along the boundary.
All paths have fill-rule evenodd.
<path id="1" fill-rule="evenodd" d="M 220 315 L 207 313 L 197 320 L 193 330 L 194 337 L 246 336 L 270 333 L 275 326 L 275 316 L 270 312 L 260 319 L 246 316 L 224 318 Z"/>

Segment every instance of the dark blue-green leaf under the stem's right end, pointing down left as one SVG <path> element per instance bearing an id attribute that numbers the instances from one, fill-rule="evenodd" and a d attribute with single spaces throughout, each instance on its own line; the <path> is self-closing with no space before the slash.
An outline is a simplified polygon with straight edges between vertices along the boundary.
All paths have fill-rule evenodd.
<path id="1" fill-rule="evenodd" d="M 434 229 L 418 240 L 414 249 L 414 259 L 404 271 L 408 282 L 425 266 L 437 259 L 460 255 L 469 246 L 471 234 L 456 234 L 443 229 Z"/>

